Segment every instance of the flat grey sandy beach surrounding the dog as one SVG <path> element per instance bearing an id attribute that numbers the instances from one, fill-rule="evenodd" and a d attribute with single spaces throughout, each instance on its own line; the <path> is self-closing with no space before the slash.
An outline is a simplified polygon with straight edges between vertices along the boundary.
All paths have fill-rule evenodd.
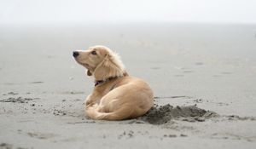
<path id="1" fill-rule="evenodd" d="M 256 26 L 0 26 L 0 148 L 255 148 Z M 143 117 L 84 115 L 72 57 L 103 44 L 154 89 Z"/>

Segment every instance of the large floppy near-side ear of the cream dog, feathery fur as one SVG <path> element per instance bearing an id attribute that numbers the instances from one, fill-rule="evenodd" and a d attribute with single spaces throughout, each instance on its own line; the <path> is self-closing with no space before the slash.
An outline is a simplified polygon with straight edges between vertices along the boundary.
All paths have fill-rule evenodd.
<path id="1" fill-rule="evenodd" d="M 94 77 L 96 80 L 106 80 L 109 77 L 121 77 L 124 76 L 124 66 L 119 60 L 117 54 L 107 54 L 99 66 L 94 71 Z"/>

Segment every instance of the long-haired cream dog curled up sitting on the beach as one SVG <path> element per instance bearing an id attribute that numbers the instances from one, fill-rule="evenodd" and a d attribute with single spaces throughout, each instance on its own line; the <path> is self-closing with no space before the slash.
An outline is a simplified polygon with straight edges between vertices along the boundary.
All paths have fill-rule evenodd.
<path id="1" fill-rule="evenodd" d="M 143 80 L 130 77 L 119 55 L 104 46 L 74 51 L 73 57 L 95 77 L 95 88 L 85 100 L 93 119 L 121 120 L 139 117 L 153 106 L 153 91 Z"/>

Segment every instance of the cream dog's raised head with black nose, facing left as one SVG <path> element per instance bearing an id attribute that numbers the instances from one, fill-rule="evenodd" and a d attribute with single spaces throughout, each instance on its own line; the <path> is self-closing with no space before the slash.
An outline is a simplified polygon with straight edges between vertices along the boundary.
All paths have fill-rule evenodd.
<path id="1" fill-rule="evenodd" d="M 119 59 L 119 55 L 105 46 L 73 51 L 73 57 L 87 69 L 87 75 L 93 75 L 96 80 L 122 77 L 125 73 L 125 67 Z"/>

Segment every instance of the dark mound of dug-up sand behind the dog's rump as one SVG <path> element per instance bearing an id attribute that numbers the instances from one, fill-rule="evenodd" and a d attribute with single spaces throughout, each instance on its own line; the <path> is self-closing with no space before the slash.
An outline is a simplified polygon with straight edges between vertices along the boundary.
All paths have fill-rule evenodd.
<path id="1" fill-rule="evenodd" d="M 202 122 L 208 117 L 217 116 L 216 112 L 206 111 L 197 106 L 173 107 L 167 104 L 165 106 L 155 105 L 143 117 L 139 117 L 139 119 L 147 123 L 163 124 L 177 118 L 182 118 L 183 121 L 189 122 Z"/>

